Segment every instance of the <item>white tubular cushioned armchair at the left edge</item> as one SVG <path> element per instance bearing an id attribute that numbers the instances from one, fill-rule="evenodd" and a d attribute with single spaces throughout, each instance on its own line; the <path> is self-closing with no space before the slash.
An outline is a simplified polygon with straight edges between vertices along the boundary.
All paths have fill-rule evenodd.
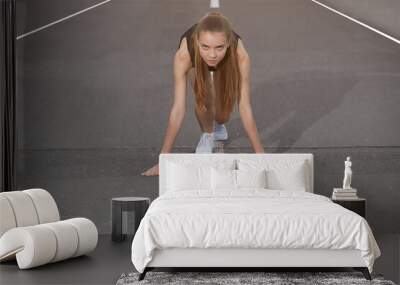
<path id="1" fill-rule="evenodd" d="M 20 269 L 28 269 L 86 254 L 97 240 L 92 221 L 60 221 L 57 204 L 44 189 L 0 193 L 0 262 L 16 258 Z"/>

